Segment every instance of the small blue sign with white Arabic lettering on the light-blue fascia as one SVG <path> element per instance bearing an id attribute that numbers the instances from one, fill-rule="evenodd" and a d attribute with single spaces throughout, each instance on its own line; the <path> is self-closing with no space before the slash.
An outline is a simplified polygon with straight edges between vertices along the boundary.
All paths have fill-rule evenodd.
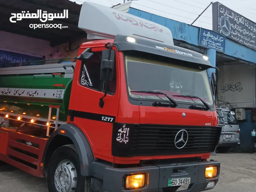
<path id="1" fill-rule="evenodd" d="M 211 30 L 200 28 L 199 46 L 215 49 L 220 52 L 225 50 L 226 37 Z"/>

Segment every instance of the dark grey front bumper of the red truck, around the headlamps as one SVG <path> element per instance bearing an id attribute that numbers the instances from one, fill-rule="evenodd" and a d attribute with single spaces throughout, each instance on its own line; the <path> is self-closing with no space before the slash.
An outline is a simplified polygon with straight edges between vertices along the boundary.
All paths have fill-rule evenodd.
<path id="1" fill-rule="evenodd" d="M 206 179 L 205 169 L 207 166 L 217 166 L 218 174 L 216 178 Z M 148 173 L 148 184 L 137 190 L 125 190 L 124 175 L 134 173 Z M 220 162 L 190 162 L 181 164 L 166 164 L 158 166 L 145 166 L 138 168 L 110 168 L 104 169 L 103 190 L 104 192 L 175 192 L 174 187 L 168 187 L 168 179 L 188 178 L 190 177 L 190 186 L 186 190 L 180 192 L 201 192 L 206 189 L 210 181 L 215 181 L 215 185 L 219 180 Z M 212 188 L 211 188 L 212 189 Z"/>

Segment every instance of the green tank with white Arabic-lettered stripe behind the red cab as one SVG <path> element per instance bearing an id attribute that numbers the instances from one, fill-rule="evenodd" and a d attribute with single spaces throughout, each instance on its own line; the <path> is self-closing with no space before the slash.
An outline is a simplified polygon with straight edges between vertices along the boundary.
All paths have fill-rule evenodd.
<path id="1" fill-rule="evenodd" d="M 25 112 L 31 116 L 40 114 L 40 117 L 48 118 L 48 106 L 60 105 L 59 120 L 66 121 L 72 78 L 34 75 L 37 74 L 0 76 L 0 109 L 16 114 Z M 65 88 L 54 84 L 63 84 Z M 59 92 L 63 94 L 61 97 Z M 56 109 L 52 109 L 52 116 L 55 115 Z"/>

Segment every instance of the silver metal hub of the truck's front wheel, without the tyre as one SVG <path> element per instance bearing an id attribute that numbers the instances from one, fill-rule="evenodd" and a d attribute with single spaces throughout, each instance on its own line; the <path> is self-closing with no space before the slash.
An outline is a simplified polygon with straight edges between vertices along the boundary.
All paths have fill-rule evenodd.
<path id="1" fill-rule="evenodd" d="M 76 190 L 77 172 L 72 162 L 68 160 L 60 162 L 55 170 L 54 183 L 59 192 L 74 192 Z"/>

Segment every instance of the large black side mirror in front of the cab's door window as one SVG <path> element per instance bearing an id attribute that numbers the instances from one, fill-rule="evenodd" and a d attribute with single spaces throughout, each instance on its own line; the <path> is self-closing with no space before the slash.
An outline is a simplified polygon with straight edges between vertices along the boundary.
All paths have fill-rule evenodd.
<path id="1" fill-rule="evenodd" d="M 101 66 L 100 66 L 100 80 L 112 81 L 114 69 L 114 50 L 102 50 Z"/>

